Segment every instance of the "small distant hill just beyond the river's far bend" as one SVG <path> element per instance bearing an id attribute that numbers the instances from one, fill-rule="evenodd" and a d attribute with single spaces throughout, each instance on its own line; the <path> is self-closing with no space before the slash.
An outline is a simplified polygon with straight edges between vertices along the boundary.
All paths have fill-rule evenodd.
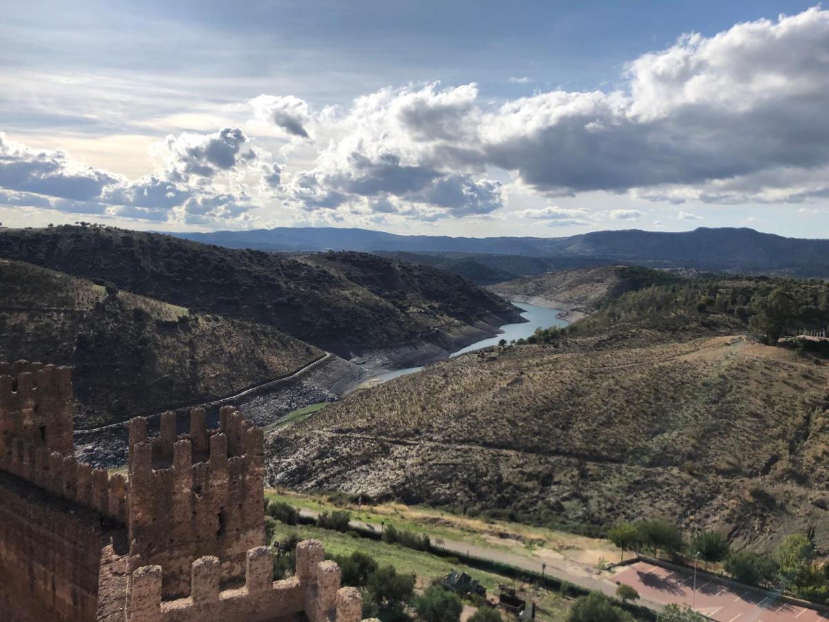
<path id="1" fill-rule="evenodd" d="M 603 265 L 525 276 L 492 284 L 487 289 L 507 300 L 560 309 L 565 311 L 566 318 L 577 319 L 594 313 L 599 304 L 625 292 L 680 279 L 679 275 L 662 270 Z"/>

